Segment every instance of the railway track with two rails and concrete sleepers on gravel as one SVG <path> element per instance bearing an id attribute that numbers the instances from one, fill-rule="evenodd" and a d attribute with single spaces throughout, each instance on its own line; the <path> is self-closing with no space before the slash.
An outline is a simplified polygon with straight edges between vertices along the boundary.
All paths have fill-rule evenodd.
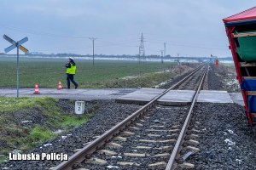
<path id="1" fill-rule="evenodd" d="M 177 167 L 176 158 L 182 150 L 181 146 L 189 126 L 195 99 L 206 72 L 206 66 L 201 65 L 147 105 L 84 148 L 79 149 L 68 161 L 63 161 L 55 169 L 106 169 L 106 167 L 173 169 Z M 193 82 L 199 85 L 190 106 L 157 105 L 157 100 L 172 89 L 183 89 L 188 84 L 190 84 L 189 88 L 195 89 L 195 84 L 192 86 Z M 185 85 L 181 86 L 183 83 Z M 184 122 L 183 125 L 181 122 Z"/>

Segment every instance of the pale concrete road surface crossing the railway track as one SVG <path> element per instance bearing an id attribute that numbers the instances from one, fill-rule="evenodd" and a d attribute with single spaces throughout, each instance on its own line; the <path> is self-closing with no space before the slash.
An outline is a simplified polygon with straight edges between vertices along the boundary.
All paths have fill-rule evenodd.
<path id="1" fill-rule="evenodd" d="M 39 88 L 40 94 L 33 94 L 33 88 L 20 88 L 20 97 L 51 97 L 56 99 L 116 99 L 125 103 L 148 103 L 164 89 L 160 88 L 79 88 L 61 89 Z M 16 97 L 16 88 L 0 88 L 0 96 Z M 172 90 L 159 99 L 159 103 L 172 105 L 188 103 L 195 92 L 193 90 Z M 185 96 L 185 98 L 184 98 Z M 187 101 L 189 99 L 189 101 Z M 126 102 L 127 101 L 127 102 Z M 241 93 L 227 93 L 226 91 L 201 90 L 197 102 L 207 103 L 237 103 L 244 105 Z M 161 105 L 161 104 L 160 104 Z"/>

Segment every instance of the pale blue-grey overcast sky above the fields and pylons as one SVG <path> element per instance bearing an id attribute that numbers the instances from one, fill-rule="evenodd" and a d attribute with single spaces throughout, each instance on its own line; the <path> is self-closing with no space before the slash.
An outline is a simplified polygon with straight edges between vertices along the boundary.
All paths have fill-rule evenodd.
<path id="1" fill-rule="evenodd" d="M 255 6 L 252 0 L 1 0 L 0 33 L 34 52 L 231 56 L 222 19 Z M 0 52 L 9 46 L 0 39 Z"/>

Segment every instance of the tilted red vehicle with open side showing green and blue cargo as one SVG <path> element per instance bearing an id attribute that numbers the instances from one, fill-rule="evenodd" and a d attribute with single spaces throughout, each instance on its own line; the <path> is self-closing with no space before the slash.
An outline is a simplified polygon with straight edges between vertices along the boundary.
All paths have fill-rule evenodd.
<path id="1" fill-rule="evenodd" d="M 256 124 L 256 7 L 224 20 L 248 124 Z"/>

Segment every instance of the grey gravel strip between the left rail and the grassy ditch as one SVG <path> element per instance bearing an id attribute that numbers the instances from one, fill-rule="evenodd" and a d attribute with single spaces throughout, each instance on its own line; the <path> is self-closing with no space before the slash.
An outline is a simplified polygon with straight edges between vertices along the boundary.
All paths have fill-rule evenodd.
<path id="1" fill-rule="evenodd" d="M 71 156 L 74 150 L 84 147 L 84 144 L 95 139 L 96 136 L 101 135 L 141 107 L 139 105 L 120 105 L 113 100 L 92 102 L 98 102 L 99 109 L 89 122 L 27 153 L 64 153 Z M 66 109 L 69 110 L 69 108 Z M 48 169 L 59 163 L 61 161 L 9 161 L 3 164 L 0 169 L 8 169 L 8 167 L 9 169 Z"/>

